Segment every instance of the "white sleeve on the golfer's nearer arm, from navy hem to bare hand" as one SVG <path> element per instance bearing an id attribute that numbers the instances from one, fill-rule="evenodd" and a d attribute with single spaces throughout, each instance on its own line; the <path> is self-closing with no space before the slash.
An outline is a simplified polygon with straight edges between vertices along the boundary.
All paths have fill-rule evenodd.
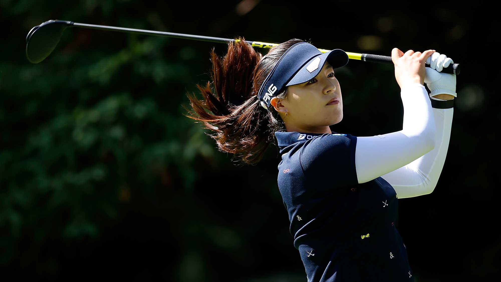
<path id="1" fill-rule="evenodd" d="M 358 183 L 401 168 L 435 147 L 435 119 L 424 85 L 408 84 L 402 88 L 400 97 L 404 107 L 402 130 L 357 137 L 355 167 Z"/>

